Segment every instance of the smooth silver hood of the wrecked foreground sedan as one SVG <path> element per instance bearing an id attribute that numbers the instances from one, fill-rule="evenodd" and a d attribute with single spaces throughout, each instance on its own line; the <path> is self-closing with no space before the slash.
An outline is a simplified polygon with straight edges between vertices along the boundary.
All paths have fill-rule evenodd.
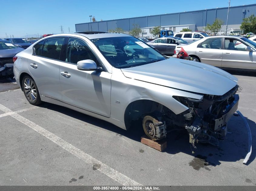
<path id="1" fill-rule="evenodd" d="M 214 66 L 174 58 L 121 70 L 127 78 L 200 94 L 223 95 L 238 82 Z"/>

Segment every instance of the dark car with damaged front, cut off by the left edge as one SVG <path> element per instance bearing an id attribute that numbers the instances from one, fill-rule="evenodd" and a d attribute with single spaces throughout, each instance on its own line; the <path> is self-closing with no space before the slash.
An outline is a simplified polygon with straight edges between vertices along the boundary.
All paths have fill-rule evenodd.
<path id="1" fill-rule="evenodd" d="M 13 57 L 22 50 L 24 49 L 0 39 L 0 78 L 13 76 Z"/>

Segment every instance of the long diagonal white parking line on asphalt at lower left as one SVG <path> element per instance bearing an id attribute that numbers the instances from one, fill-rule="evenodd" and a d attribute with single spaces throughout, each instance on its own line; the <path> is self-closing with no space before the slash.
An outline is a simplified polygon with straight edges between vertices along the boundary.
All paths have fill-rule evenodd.
<path id="1" fill-rule="evenodd" d="M 115 169 L 109 167 L 108 165 L 98 161 L 97 159 L 91 157 L 89 154 L 81 151 L 80 149 L 76 148 L 75 146 L 71 145 L 70 143 L 66 142 L 62 138 L 54 135 L 53 133 L 47 131 L 46 129 L 38 126 L 34 122 L 26 119 L 25 117 L 20 116 L 19 114 L 13 112 L 12 110 L 8 109 L 7 107 L 0 104 L 0 110 L 5 113 L 10 113 L 9 115 L 18 120 L 21 123 L 24 123 L 26 126 L 30 127 L 31 129 L 35 130 L 36 132 L 40 133 L 41 135 L 45 136 L 52 142 L 56 143 L 57 145 L 64 148 L 66 151 L 70 152 L 71 154 L 75 155 L 77 158 L 85 161 L 86 163 L 90 164 L 94 168 L 98 169 L 103 174 L 107 175 L 108 177 L 112 178 L 113 180 L 117 181 L 118 183 L 124 186 L 142 186 L 140 183 L 137 183 L 134 180 L 131 180 L 129 177 L 125 176 L 124 174 L 116 171 Z"/>

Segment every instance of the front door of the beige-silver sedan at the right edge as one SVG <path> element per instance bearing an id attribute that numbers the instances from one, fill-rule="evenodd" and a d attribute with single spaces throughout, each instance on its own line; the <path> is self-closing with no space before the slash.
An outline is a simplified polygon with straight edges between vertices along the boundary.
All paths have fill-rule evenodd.
<path id="1" fill-rule="evenodd" d="M 221 67 L 256 69 L 256 52 L 245 50 L 247 45 L 235 38 L 225 38 Z"/>

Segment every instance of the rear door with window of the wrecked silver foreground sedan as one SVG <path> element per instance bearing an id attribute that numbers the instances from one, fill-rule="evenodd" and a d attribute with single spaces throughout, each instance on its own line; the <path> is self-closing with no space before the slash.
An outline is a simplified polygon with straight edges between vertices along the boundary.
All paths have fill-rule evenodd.
<path id="1" fill-rule="evenodd" d="M 28 70 L 32 74 L 41 95 L 61 100 L 59 65 L 60 53 L 65 37 L 42 40 L 33 46 L 28 55 Z"/>

